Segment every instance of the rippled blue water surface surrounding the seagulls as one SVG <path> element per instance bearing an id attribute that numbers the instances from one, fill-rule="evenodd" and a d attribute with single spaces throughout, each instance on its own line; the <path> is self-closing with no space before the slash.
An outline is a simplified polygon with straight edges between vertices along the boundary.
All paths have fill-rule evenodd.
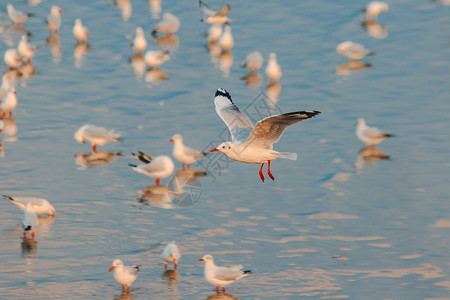
<path id="1" fill-rule="evenodd" d="M 232 1 L 235 46 L 215 57 L 205 47 L 209 26 L 199 22 L 197 2 L 188 2 L 163 1 L 162 12 L 152 15 L 146 1 L 133 0 L 131 16 L 125 9 L 124 17 L 112 1 L 58 1 L 63 25 L 60 40 L 50 43 L 44 21 L 53 3 L 12 2 L 35 14 L 24 26 L 39 49 L 36 74 L 18 81 L 14 122 L 2 134 L 0 191 L 47 198 L 57 213 L 40 218 L 32 243 L 21 239 L 21 212 L 0 202 L 0 298 L 449 297 L 450 7 L 389 1 L 390 11 L 378 19 L 387 30 L 381 39 L 361 26 L 366 1 Z M 219 9 L 224 2 L 209 4 Z M 134 30 L 142 26 L 149 47 L 161 48 L 150 31 L 164 12 L 181 21 L 176 38 L 164 45 L 171 59 L 161 66 L 163 75 L 144 70 L 138 76 L 129 63 Z M 78 17 L 91 31 L 89 47 L 75 47 Z M 2 54 L 21 34 L 8 28 Z M 364 59 L 372 67 L 348 72 L 341 66 L 347 61 L 335 47 L 344 40 L 376 52 Z M 264 70 L 259 85 L 241 80 L 240 65 L 254 50 L 263 54 L 264 67 L 269 53 L 277 53 L 280 85 L 267 89 Z M 155 82 L 160 76 L 167 80 Z M 228 164 L 215 154 L 193 166 L 209 175 L 179 198 L 151 187 L 154 180 L 128 166 L 135 163 L 131 153 L 170 155 L 174 133 L 198 149 L 220 143 L 218 87 L 256 120 L 269 111 L 322 114 L 292 126 L 276 144 L 299 158 L 275 161 L 275 182 L 261 183 L 256 165 Z M 278 101 L 268 106 L 264 91 Z M 377 146 L 377 155 L 389 160 L 359 154 L 359 117 L 396 135 Z M 120 131 L 124 143 L 103 149 L 122 155 L 94 167 L 77 164 L 75 155 L 90 150 L 73 139 L 85 123 Z M 162 183 L 177 188 L 172 178 Z M 172 240 L 183 254 L 177 274 L 164 273 L 159 256 Z M 254 274 L 214 298 L 198 262 L 207 253 Z M 141 264 L 129 296 L 121 297 L 107 272 L 115 258 Z"/>

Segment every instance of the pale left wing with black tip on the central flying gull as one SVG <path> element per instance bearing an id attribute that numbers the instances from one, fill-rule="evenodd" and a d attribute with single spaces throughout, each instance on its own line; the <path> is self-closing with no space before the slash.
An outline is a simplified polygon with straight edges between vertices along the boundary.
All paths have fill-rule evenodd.
<path id="1" fill-rule="evenodd" d="M 218 89 L 214 97 L 216 112 L 225 122 L 231 133 L 233 142 L 244 142 L 253 130 L 253 124 L 234 105 L 230 94 L 224 89 Z"/>

